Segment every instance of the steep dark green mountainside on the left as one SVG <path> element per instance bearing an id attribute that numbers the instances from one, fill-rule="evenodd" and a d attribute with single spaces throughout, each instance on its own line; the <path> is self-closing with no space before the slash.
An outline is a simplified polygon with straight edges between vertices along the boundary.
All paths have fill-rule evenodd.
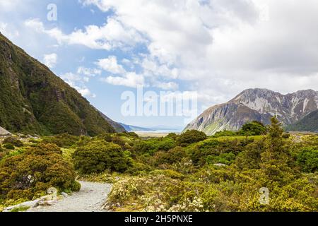
<path id="1" fill-rule="evenodd" d="M 88 100 L 1 33 L 0 126 L 39 134 L 114 132 Z"/>

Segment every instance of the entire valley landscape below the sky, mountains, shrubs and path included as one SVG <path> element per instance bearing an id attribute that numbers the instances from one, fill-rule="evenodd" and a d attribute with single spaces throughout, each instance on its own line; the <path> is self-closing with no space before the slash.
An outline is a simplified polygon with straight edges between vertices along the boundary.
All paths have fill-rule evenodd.
<path id="1" fill-rule="evenodd" d="M 182 133 L 120 124 L 0 34 L 0 211 L 317 212 L 317 106 L 254 88 Z"/>

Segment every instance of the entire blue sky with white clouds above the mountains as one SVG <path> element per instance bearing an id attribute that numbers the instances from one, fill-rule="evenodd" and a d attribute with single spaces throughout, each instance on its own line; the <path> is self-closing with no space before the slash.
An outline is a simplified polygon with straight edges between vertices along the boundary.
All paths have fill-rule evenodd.
<path id="1" fill-rule="evenodd" d="M 127 116 L 123 93 L 194 92 L 199 114 L 247 88 L 318 90 L 317 12 L 317 0 L 0 0 L 0 32 L 115 121 L 182 129 L 196 114 Z"/>

